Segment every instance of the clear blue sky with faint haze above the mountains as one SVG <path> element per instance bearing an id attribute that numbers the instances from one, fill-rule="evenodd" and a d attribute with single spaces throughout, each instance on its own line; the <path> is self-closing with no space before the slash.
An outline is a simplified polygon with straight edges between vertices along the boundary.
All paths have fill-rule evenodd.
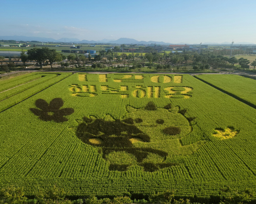
<path id="1" fill-rule="evenodd" d="M 256 44 L 256 0 L 0 2 L 0 36 Z"/>

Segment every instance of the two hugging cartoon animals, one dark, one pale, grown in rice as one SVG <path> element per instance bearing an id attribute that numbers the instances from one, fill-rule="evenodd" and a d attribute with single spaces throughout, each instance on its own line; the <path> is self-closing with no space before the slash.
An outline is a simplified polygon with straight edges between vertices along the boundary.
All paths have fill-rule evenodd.
<path id="1" fill-rule="evenodd" d="M 157 108 L 153 102 L 142 109 L 128 106 L 127 110 L 121 120 L 82 118 L 76 130 L 77 137 L 84 143 L 100 147 L 102 157 L 110 163 L 110 170 L 126 171 L 136 164 L 152 172 L 178 165 L 166 161 L 168 153 L 159 145 L 191 132 L 190 123 L 183 116 L 186 110 L 180 111 L 179 107 L 172 108 L 170 104 Z"/>

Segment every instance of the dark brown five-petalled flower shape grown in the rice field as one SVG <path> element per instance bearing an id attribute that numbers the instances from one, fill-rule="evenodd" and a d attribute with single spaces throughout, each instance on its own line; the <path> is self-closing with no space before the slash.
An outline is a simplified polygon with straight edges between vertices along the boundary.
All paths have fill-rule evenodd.
<path id="1" fill-rule="evenodd" d="M 61 98 L 55 98 L 51 100 L 50 104 L 48 104 L 44 99 L 37 99 L 35 102 L 36 108 L 30 108 L 30 111 L 33 112 L 36 116 L 39 116 L 39 119 L 43 121 L 55 121 L 56 123 L 62 123 L 68 121 L 67 118 L 63 116 L 70 115 L 74 112 L 72 108 L 63 108 L 63 100 Z"/>

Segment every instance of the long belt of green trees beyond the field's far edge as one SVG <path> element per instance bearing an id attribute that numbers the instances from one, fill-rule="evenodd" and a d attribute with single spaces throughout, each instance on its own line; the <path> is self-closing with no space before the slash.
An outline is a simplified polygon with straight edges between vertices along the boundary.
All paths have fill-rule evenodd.
<path id="1" fill-rule="evenodd" d="M 145 47 L 143 47 L 145 49 Z M 142 48 L 141 48 L 142 50 Z M 154 66 L 156 63 L 156 69 L 170 69 L 171 66 L 176 67 L 185 67 L 185 66 L 192 66 L 193 69 L 216 69 L 217 67 L 220 68 L 231 68 L 234 67 L 235 64 L 240 64 L 241 67 L 246 68 L 250 61 L 248 59 L 240 58 L 237 59 L 236 57 L 225 57 L 223 55 L 214 55 L 212 52 L 202 52 L 198 54 L 197 52 L 175 52 L 175 53 L 158 53 L 154 52 L 147 52 L 145 55 L 141 53 L 134 53 L 132 52 L 130 55 L 126 55 L 124 53 L 118 54 L 120 52 L 119 47 L 114 47 L 112 50 L 102 50 L 99 52 L 98 55 L 91 59 L 91 55 L 89 54 L 88 57 L 84 55 L 74 55 L 70 54 L 65 56 L 61 53 L 56 52 L 56 50 L 49 49 L 47 47 L 42 48 L 32 48 L 28 50 L 27 54 L 22 50 L 20 59 L 24 63 L 27 61 L 36 61 L 42 67 L 43 64 L 46 62 L 53 65 L 54 62 L 58 62 L 61 66 L 68 67 L 70 65 L 74 65 L 76 67 L 85 67 L 86 63 L 94 62 L 92 67 L 100 67 L 104 68 L 106 65 L 112 66 L 115 63 L 115 67 L 120 67 L 120 63 L 122 66 L 133 67 L 133 68 L 140 68 L 144 66 L 145 62 L 149 62 L 149 68 Z M 3 57 L 2 57 L 3 58 Z M 4 58 L 0 57 L 1 65 L 4 62 Z M 67 60 L 63 62 L 63 60 Z M 12 64 L 9 64 L 11 66 Z M 251 66 L 256 66 L 256 61 L 251 63 Z M 185 67 L 186 68 L 186 67 Z"/>

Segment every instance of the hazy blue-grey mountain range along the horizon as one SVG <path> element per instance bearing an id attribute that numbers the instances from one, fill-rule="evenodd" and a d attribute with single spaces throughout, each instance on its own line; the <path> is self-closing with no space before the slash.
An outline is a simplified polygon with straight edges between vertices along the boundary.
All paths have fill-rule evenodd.
<path id="1" fill-rule="evenodd" d="M 42 37 L 27 37 L 27 36 L 0 36 L 0 40 L 16 40 L 16 41 L 42 41 L 42 42 L 54 42 L 54 43 L 112 43 L 112 44 L 157 44 L 157 45 L 184 45 L 184 44 L 190 44 L 190 43 L 165 43 L 163 41 L 138 41 L 132 38 L 119 38 L 118 40 L 109 40 L 109 39 L 103 39 L 103 40 L 79 40 L 77 38 L 60 38 L 58 40 L 55 40 L 53 38 L 42 38 Z M 203 45 L 222 45 L 222 44 L 231 44 L 231 42 L 223 42 L 223 43 L 211 43 L 206 42 L 202 43 Z M 248 43 L 248 42 L 238 42 L 234 44 L 247 44 L 247 45 L 254 45 L 254 43 Z M 191 44 L 190 44 L 191 45 Z"/>

